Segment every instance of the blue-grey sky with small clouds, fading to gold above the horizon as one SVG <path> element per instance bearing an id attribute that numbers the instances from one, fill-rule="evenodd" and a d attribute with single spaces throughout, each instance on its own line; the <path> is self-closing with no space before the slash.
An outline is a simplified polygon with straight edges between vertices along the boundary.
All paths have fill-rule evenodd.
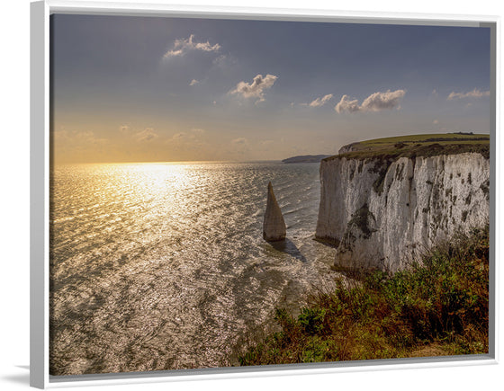
<path id="1" fill-rule="evenodd" d="M 280 160 L 490 132 L 490 28 L 51 16 L 55 164 Z"/>

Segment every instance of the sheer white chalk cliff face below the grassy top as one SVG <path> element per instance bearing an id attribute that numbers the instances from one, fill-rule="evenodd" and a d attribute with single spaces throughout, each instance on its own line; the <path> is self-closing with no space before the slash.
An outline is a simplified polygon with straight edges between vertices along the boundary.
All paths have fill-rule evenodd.
<path id="1" fill-rule="evenodd" d="M 320 164 L 316 236 L 345 268 L 403 269 L 418 254 L 489 222 L 490 160 L 479 153 Z"/>

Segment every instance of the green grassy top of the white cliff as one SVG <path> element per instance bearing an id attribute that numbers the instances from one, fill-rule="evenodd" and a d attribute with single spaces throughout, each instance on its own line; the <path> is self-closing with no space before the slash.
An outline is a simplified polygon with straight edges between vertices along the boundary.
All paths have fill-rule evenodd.
<path id="1" fill-rule="evenodd" d="M 400 157 L 453 155 L 465 152 L 480 153 L 489 158 L 490 135 L 445 133 L 376 138 L 354 143 L 352 147 L 355 149 L 352 152 L 330 156 L 324 160 L 341 157 L 397 159 Z"/>

